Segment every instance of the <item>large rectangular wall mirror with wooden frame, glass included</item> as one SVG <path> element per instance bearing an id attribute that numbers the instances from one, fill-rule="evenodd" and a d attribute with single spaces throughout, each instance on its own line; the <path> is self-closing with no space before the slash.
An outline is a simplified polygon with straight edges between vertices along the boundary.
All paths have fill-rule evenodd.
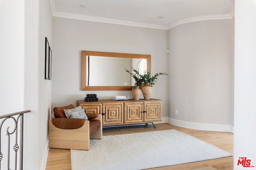
<path id="1" fill-rule="evenodd" d="M 150 72 L 151 55 L 82 51 L 81 90 L 132 90 L 134 79 L 125 70 Z"/>

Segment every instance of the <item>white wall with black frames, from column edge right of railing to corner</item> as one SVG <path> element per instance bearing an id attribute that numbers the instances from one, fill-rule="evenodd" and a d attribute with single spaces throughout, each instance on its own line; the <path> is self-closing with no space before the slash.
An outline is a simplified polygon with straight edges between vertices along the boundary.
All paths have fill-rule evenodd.
<path id="1" fill-rule="evenodd" d="M 44 80 L 45 37 L 52 45 L 50 0 L 26 0 L 24 169 L 43 170 L 48 149 L 51 81 Z M 53 50 L 53 48 L 52 48 Z"/>

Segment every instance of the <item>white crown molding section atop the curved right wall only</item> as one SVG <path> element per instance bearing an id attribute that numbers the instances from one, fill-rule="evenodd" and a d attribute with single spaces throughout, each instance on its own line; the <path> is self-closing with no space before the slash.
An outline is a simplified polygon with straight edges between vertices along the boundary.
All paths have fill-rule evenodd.
<path id="1" fill-rule="evenodd" d="M 181 25 L 184 23 L 190 23 L 190 22 L 196 22 L 196 21 L 231 19 L 234 17 L 234 14 L 235 14 L 235 8 L 233 8 L 229 14 L 197 16 L 197 17 L 192 17 L 192 18 L 186 18 L 184 20 L 175 21 L 168 27 L 168 29 L 171 29 L 177 25 Z"/>

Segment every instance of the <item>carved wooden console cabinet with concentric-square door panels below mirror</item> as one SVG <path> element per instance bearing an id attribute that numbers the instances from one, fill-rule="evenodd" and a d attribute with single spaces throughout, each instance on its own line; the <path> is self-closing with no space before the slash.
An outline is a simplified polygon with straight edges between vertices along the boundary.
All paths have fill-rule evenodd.
<path id="1" fill-rule="evenodd" d="M 86 112 L 105 113 L 102 126 L 131 125 L 161 121 L 162 101 L 158 99 L 84 102 L 77 100 L 76 106 L 82 106 Z"/>

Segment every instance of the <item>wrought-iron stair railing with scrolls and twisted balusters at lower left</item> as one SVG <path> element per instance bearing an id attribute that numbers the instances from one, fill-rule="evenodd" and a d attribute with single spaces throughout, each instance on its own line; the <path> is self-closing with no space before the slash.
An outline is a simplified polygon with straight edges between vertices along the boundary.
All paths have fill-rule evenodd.
<path id="1" fill-rule="evenodd" d="M 10 145 L 11 145 L 11 135 L 14 134 L 15 132 L 15 144 L 13 146 L 13 149 L 15 151 L 15 164 L 14 164 L 14 168 L 15 170 L 17 170 L 17 164 L 18 164 L 18 151 L 20 149 L 20 161 L 19 161 L 19 167 L 20 167 L 20 170 L 23 170 L 23 126 L 24 126 L 24 123 L 23 123 L 23 115 L 24 113 L 28 113 L 30 112 L 30 110 L 26 110 L 26 111 L 20 111 L 20 112 L 16 112 L 16 113 L 11 113 L 11 114 L 8 114 L 8 115 L 2 115 L 0 116 L 0 121 L 2 119 L 2 122 L 0 122 L 0 170 L 1 170 L 1 161 L 3 160 L 4 157 L 7 156 L 7 169 L 10 170 L 10 156 L 11 156 L 11 152 L 10 152 Z M 18 115 L 17 118 L 15 118 L 14 116 L 15 115 Z M 6 135 L 8 136 L 8 141 L 7 141 L 7 145 L 8 145 L 8 150 L 7 150 L 7 154 L 4 154 L 2 153 L 2 126 L 4 124 L 4 122 L 8 119 L 12 119 L 14 121 L 14 129 L 13 131 L 9 131 L 9 128 L 10 127 L 7 127 L 6 129 Z M 18 145 L 18 123 L 20 121 L 20 141 L 19 141 L 19 144 L 20 146 Z M 4 156 L 6 155 L 6 156 Z M 13 166 L 13 165 L 11 165 Z"/>

